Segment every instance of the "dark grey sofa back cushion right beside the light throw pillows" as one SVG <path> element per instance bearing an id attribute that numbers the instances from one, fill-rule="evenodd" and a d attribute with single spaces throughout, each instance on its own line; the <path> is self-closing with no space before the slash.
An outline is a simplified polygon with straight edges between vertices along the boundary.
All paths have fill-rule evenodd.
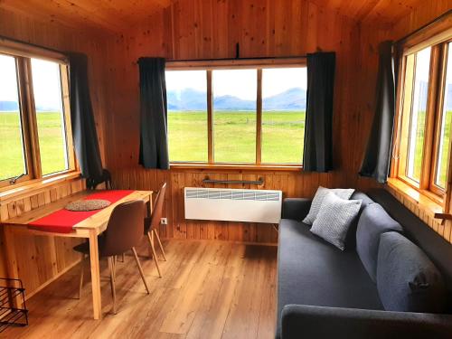
<path id="1" fill-rule="evenodd" d="M 373 281 L 377 278 L 378 245 L 381 233 L 402 231 L 378 203 L 372 203 L 361 214 L 356 231 L 356 251 Z"/>

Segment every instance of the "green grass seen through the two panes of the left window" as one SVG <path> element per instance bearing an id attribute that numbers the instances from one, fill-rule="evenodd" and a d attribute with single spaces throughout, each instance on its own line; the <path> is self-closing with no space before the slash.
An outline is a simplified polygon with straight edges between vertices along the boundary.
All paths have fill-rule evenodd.
<path id="1" fill-rule="evenodd" d="M 42 174 L 66 169 L 61 115 L 40 112 L 37 115 Z M 0 180 L 24 173 L 24 153 L 21 141 L 19 113 L 0 112 Z"/>

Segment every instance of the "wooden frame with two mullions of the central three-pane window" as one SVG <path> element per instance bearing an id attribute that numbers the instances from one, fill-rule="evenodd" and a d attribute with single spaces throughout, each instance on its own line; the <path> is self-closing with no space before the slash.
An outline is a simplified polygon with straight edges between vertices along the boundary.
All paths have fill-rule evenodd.
<path id="1" fill-rule="evenodd" d="M 207 162 L 171 161 L 171 168 L 219 168 L 219 169 L 265 169 L 294 170 L 303 164 L 262 164 L 262 70 L 277 68 L 306 68 L 306 58 L 262 58 L 212 61 L 167 61 L 165 71 L 206 71 L 207 80 Z M 212 71 L 252 69 L 257 71 L 256 93 L 256 161 L 254 163 L 225 163 L 214 161 L 213 149 L 213 91 Z"/>

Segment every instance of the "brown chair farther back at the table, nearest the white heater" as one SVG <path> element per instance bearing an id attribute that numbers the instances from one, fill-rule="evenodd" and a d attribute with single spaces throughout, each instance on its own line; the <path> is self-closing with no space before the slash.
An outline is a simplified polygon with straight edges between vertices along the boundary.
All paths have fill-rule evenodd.
<path id="1" fill-rule="evenodd" d="M 164 257 L 164 260 L 166 261 L 165 257 L 165 250 L 162 246 L 162 241 L 160 241 L 160 237 L 158 236 L 158 231 L 155 231 L 158 225 L 160 224 L 160 219 L 162 218 L 163 214 L 163 208 L 164 208 L 164 201 L 165 201 L 165 192 L 166 192 L 166 183 L 162 185 L 160 188 L 160 191 L 157 193 L 157 197 L 155 198 L 155 205 L 152 210 L 152 214 L 150 218 L 145 219 L 145 235 L 147 236 L 147 239 L 149 240 L 149 244 L 151 246 L 151 257 L 154 259 L 155 266 L 157 268 L 158 276 L 162 278 L 162 273 L 160 272 L 160 267 L 158 266 L 158 260 L 157 256 L 155 254 L 155 247 L 154 247 L 154 237 L 156 238 L 158 242 L 158 246 L 160 250 L 162 251 L 162 256 Z"/>

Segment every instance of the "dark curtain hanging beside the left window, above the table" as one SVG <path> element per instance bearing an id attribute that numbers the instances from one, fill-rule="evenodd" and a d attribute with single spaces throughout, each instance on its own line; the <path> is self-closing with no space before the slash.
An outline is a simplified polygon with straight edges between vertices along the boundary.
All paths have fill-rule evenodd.
<path id="1" fill-rule="evenodd" d="M 84 178 L 102 176 L 99 141 L 89 96 L 88 58 L 68 53 L 70 62 L 71 127 L 75 154 Z"/>

